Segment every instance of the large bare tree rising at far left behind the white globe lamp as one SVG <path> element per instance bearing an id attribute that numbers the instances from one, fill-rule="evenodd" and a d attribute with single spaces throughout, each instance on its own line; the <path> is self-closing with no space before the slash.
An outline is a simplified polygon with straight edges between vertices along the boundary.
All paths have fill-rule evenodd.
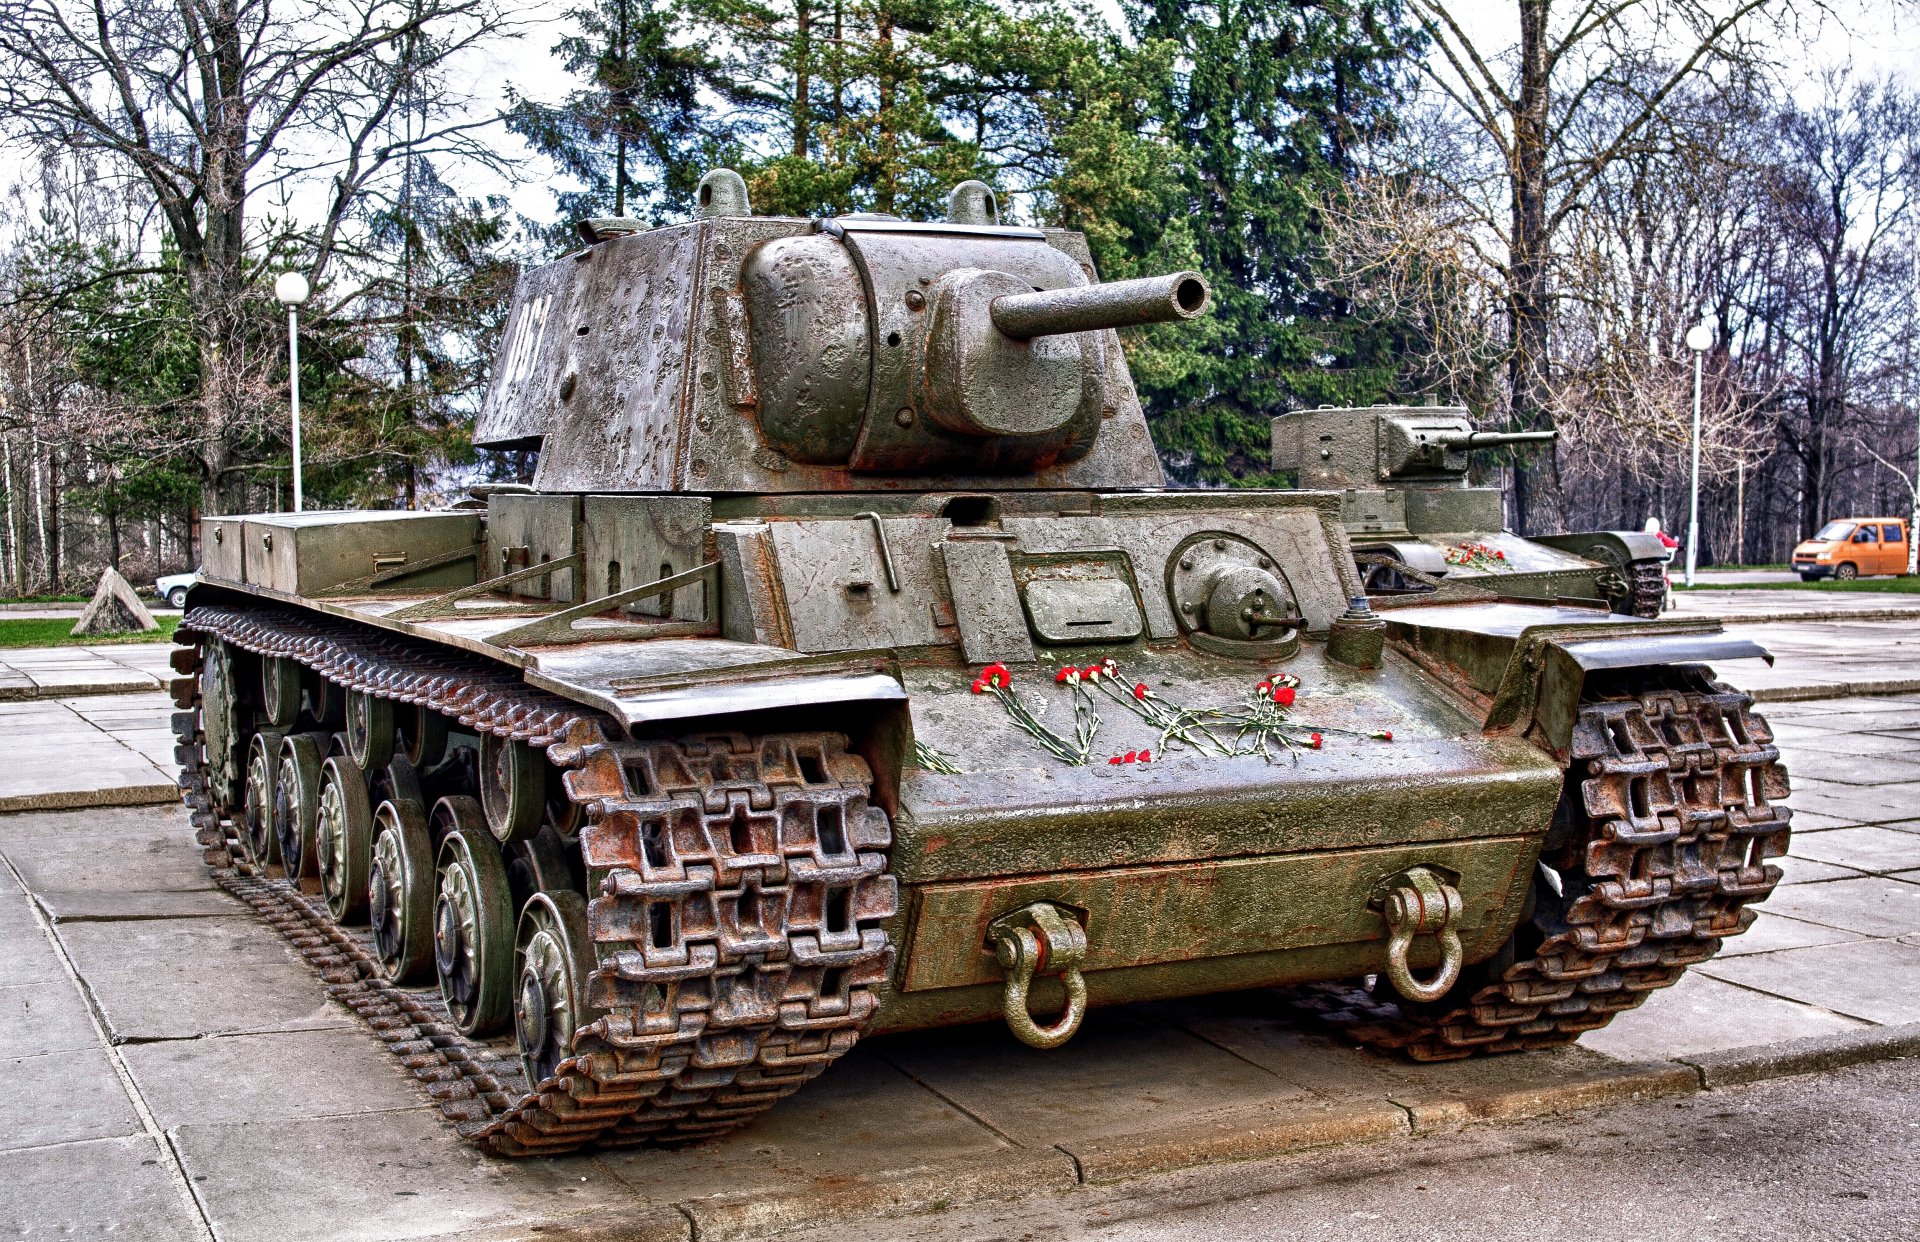
<path id="1" fill-rule="evenodd" d="M 361 196 L 409 155 L 488 157 L 492 117 L 461 115 L 445 79 L 499 29 L 492 0 L 0 0 L 0 131 L 132 169 L 186 275 L 209 505 L 232 495 L 278 349 L 261 273 L 298 250 L 324 276 Z M 407 100 L 428 121 L 396 136 Z M 323 203 L 296 230 L 265 219 L 263 192 L 284 215 Z"/>

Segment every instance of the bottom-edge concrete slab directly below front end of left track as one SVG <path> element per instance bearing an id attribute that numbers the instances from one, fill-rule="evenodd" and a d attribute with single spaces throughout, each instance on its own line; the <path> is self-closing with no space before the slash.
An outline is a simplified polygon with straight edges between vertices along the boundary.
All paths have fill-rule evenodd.
<path id="1" fill-rule="evenodd" d="M 424 1108 L 182 1125 L 173 1136 L 221 1242 L 451 1238 L 641 1206 L 593 1161 L 490 1159 Z"/>

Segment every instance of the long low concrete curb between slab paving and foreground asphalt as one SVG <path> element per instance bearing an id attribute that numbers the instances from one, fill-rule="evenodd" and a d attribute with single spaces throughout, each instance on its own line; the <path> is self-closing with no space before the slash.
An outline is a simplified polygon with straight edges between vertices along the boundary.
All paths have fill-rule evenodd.
<path id="1" fill-rule="evenodd" d="M 1920 1056 L 1920 1023 L 1864 1027 L 1670 1062 L 1599 1065 L 1528 1085 L 1415 1090 L 1388 1100 L 1354 1098 L 1306 1110 L 1296 1104 L 1269 1104 L 1213 1113 L 1173 1131 L 1102 1136 L 1058 1150 L 1008 1150 L 993 1158 L 877 1171 L 856 1179 L 814 1179 L 770 1194 L 743 1190 L 685 1200 L 672 1207 L 649 1206 L 632 1213 L 601 1213 L 591 1221 L 518 1225 L 486 1234 L 463 1232 L 461 1238 L 463 1242 L 764 1238 L 808 1225 L 818 1229 L 835 1221 L 902 1217 L 981 1200 L 1004 1202 L 1035 1190 L 1119 1182 L 1148 1173 L 1269 1159 L 1309 1148 L 1421 1138 L 1473 1125 L 1532 1121 L 1574 1110 L 1688 1096 L 1912 1056 Z"/>

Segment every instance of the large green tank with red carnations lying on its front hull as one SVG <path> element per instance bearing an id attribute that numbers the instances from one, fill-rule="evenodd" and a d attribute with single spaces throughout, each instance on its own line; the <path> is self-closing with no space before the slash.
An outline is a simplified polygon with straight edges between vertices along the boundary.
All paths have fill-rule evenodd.
<path id="1" fill-rule="evenodd" d="M 1369 605 L 1340 491 L 1165 488 L 1075 232 L 591 221 L 434 513 L 207 518 L 175 655 L 219 883 L 474 1144 L 732 1129 L 868 1033 L 1229 989 L 1563 1044 L 1745 927 L 1786 774 L 1709 622 Z M 213 969 L 209 966 L 209 969 Z"/>

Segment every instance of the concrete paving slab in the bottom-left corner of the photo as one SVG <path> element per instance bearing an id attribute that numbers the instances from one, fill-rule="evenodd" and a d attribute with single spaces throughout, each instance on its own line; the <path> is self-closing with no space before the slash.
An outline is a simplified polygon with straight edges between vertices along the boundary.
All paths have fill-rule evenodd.
<path id="1" fill-rule="evenodd" d="M 198 1242 L 205 1227 L 148 1136 L 0 1152 L 0 1234 Z"/>

